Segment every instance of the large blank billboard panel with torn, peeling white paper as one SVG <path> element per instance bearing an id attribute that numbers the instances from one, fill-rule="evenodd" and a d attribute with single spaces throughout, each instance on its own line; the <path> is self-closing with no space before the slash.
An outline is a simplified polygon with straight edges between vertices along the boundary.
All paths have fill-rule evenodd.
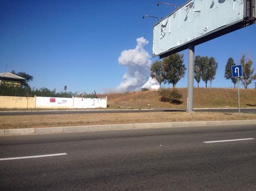
<path id="1" fill-rule="evenodd" d="M 154 25 L 153 57 L 163 58 L 188 48 L 190 43 L 198 45 L 242 28 L 250 1 L 189 0 Z"/>

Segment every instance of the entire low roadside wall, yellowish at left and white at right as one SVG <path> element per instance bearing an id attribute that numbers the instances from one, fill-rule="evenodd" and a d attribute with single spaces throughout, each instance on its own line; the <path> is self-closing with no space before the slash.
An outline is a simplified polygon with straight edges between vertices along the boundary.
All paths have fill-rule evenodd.
<path id="1" fill-rule="evenodd" d="M 74 109 L 74 108 L 107 108 L 106 98 L 82 98 L 82 97 L 16 97 L 0 96 L 0 108 L 52 108 L 52 109 Z"/>

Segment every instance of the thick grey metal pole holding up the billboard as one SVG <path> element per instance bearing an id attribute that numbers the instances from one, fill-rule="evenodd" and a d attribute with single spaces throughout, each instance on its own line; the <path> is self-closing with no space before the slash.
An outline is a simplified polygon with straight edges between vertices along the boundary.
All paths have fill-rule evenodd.
<path id="1" fill-rule="evenodd" d="M 188 47 L 188 85 L 187 85 L 187 112 L 193 111 L 193 89 L 194 89 L 194 57 L 195 46 Z"/>

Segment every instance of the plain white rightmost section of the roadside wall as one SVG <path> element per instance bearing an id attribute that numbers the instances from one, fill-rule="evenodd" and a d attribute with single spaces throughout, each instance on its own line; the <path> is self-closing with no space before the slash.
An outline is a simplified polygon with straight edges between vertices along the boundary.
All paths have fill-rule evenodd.
<path id="1" fill-rule="evenodd" d="M 107 108 L 107 98 L 74 97 L 73 108 Z"/>

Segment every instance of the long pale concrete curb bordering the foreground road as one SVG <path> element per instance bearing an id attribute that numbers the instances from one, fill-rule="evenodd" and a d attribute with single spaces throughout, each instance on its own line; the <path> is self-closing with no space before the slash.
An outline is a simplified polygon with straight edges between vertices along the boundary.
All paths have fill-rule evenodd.
<path id="1" fill-rule="evenodd" d="M 39 134 L 52 134 L 52 133 L 124 130 L 124 129 L 203 127 L 203 126 L 228 126 L 228 125 L 249 125 L 249 124 L 256 125 L 256 119 L 233 120 L 233 121 L 192 121 L 192 122 L 170 122 L 170 123 L 143 123 L 143 124 L 115 124 L 115 125 L 73 126 L 73 127 L 1 129 L 0 137 L 16 136 L 16 135 L 39 135 Z"/>

